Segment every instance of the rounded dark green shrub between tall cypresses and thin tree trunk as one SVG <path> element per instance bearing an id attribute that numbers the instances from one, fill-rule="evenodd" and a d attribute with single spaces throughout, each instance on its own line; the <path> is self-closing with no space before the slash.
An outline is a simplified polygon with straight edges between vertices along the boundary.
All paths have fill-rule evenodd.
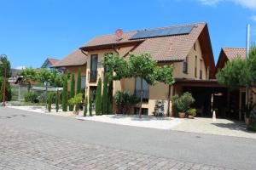
<path id="1" fill-rule="evenodd" d="M 119 114 L 127 114 L 131 106 L 137 104 L 139 101 L 135 94 L 131 94 L 128 91 L 117 91 L 113 99 L 117 105 L 117 112 Z"/>

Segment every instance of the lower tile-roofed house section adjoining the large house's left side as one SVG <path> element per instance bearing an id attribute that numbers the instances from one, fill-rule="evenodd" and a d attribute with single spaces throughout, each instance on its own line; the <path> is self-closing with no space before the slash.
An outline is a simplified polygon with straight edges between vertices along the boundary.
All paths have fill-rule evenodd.
<path id="1" fill-rule="evenodd" d="M 74 73 L 75 82 L 77 82 L 78 71 L 81 71 L 81 88 L 85 88 L 86 84 L 86 61 L 87 54 L 80 49 L 76 49 L 73 53 L 68 54 L 64 59 L 52 65 L 53 68 L 64 71 L 65 74 Z M 77 87 L 77 86 L 75 86 Z"/>

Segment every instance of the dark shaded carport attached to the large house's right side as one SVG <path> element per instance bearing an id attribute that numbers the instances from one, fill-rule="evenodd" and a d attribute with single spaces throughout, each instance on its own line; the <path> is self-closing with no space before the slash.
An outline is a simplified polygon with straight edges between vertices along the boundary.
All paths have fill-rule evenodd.
<path id="1" fill-rule="evenodd" d="M 197 116 L 211 117 L 212 111 L 219 118 L 242 120 L 245 93 L 241 89 L 230 89 L 212 80 L 180 79 L 174 84 L 173 94 L 189 92 L 195 98 L 192 105 Z"/>

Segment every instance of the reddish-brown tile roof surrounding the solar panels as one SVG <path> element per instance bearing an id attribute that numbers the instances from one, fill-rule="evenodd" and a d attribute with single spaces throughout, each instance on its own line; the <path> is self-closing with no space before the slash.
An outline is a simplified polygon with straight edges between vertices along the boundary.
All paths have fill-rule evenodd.
<path id="1" fill-rule="evenodd" d="M 172 60 L 183 60 L 189 54 L 190 49 L 193 47 L 195 41 L 200 36 L 202 30 L 207 26 L 206 23 L 195 23 L 184 26 L 195 26 L 189 34 L 184 35 L 173 35 L 166 37 L 150 37 L 144 39 L 130 40 L 137 31 L 125 32 L 123 39 L 117 41 L 117 37 L 112 35 L 95 37 L 90 42 L 87 42 L 82 49 L 90 49 L 92 47 L 99 47 L 109 44 L 122 44 L 129 42 L 141 42 L 137 48 L 131 53 L 142 54 L 149 53 L 152 58 L 158 61 L 172 61 Z M 168 26 L 164 28 L 172 28 L 180 26 Z M 164 29 L 157 28 L 157 29 Z M 151 29 L 148 29 L 151 30 Z M 154 30 L 154 29 L 152 29 Z"/>

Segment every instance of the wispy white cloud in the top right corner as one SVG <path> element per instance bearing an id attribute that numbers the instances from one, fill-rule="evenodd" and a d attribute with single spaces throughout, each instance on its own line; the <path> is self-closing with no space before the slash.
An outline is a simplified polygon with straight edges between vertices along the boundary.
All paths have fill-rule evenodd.
<path id="1" fill-rule="evenodd" d="M 256 10 L 256 0 L 196 0 L 205 5 L 217 5 L 221 2 L 231 2 L 241 5 L 244 8 Z"/>

